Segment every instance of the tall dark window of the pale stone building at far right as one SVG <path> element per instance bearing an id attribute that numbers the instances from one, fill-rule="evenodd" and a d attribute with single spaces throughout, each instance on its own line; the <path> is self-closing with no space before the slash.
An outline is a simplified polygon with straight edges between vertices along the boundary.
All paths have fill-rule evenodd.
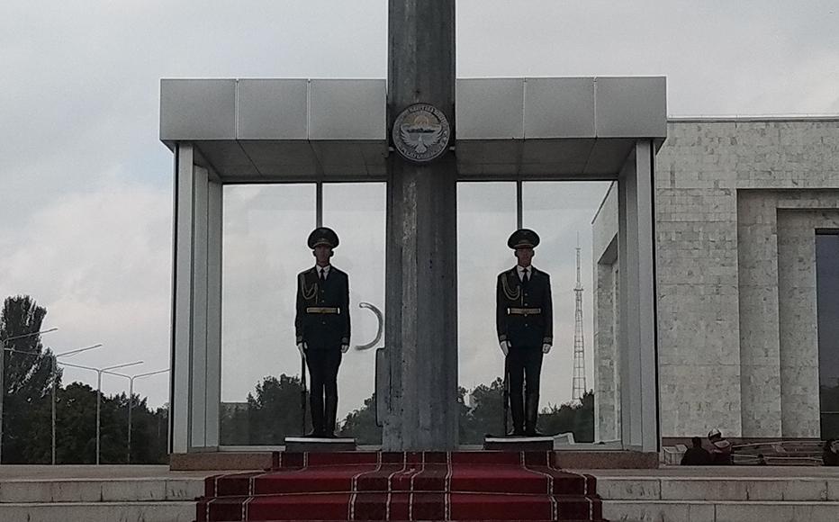
<path id="1" fill-rule="evenodd" d="M 818 380 L 822 438 L 839 437 L 839 234 L 816 234 Z"/>

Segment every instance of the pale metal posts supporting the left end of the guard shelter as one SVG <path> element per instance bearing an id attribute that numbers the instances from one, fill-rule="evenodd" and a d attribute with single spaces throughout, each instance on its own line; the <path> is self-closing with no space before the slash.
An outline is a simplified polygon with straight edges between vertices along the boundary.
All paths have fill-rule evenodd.
<path id="1" fill-rule="evenodd" d="M 218 446 L 221 397 L 221 184 L 176 153 L 170 452 Z"/>

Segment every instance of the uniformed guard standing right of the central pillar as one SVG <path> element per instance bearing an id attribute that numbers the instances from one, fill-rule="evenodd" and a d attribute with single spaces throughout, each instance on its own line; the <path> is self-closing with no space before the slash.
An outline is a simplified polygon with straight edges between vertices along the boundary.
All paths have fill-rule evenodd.
<path id="1" fill-rule="evenodd" d="M 539 374 L 542 357 L 551 350 L 553 304 L 551 279 L 530 265 L 539 236 L 530 229 L 513 232 L 507 245 L 518 264 L 498 275 L 496 329 L 510 384 L 510 415 L 514 436 L 536 437 L 539 413 Z M 522 389 L 524 388 L 524 392 Z"/>

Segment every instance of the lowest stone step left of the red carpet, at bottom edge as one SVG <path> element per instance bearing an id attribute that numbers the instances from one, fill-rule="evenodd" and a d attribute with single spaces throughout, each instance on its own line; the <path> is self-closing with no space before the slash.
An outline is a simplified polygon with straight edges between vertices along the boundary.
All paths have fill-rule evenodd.
<path id="1" fill-rule="evenodd" d="M 0 504 L 4 522 L 192 522 L 195 502 L 12 502 Z"/>

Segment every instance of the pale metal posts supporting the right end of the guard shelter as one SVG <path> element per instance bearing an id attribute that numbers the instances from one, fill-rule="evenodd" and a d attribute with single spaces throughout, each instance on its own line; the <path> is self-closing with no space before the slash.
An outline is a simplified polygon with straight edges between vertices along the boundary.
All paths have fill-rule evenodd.
<path id="1" fill-rule="evenodd" d="M 618 177 L 620 426 L 627 448 L 659 449 L 654 302 L 653 146 L 639 141 Z"/>

